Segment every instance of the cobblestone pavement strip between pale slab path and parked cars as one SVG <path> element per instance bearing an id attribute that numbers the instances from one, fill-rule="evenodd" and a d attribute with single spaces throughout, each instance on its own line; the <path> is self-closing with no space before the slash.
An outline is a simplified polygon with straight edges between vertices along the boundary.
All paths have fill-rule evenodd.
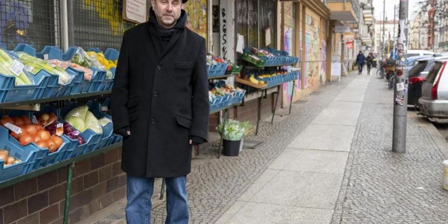
<path id="1" fill-rule="evenodd" d="M 408 111 L 407 152 L 392 153 L 393 91 L 372 78 L 332 223 L 448 223 L 441 149 Z"/>

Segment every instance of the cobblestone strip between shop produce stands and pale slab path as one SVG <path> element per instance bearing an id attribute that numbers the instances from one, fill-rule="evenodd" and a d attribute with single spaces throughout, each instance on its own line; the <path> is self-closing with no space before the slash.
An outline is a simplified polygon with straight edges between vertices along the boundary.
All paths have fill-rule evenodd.
<path id="1" fill-rule="evenodd" d="M 265 143 L 257 149 L 244 149 L 238 157 L 216 158 L 217 151 L 205 151 L 193 160 L 188 176 L 191 224 L 215 223 L 236 199 L 263 173 L 291 140 L 325 109 L 356 75 L 342 77 L 340 83 L 328 83 L 319 91 L 293 105 L 288 117 L 271 125 L 260 121 L 258 136 L 251 140 Z M 304 103 L 307 101 L 306 103 Z M 287 114 L 279 111 L 277 114 Z M 162 224 L 165 206 L 152 213 L 152 223 Z"/>

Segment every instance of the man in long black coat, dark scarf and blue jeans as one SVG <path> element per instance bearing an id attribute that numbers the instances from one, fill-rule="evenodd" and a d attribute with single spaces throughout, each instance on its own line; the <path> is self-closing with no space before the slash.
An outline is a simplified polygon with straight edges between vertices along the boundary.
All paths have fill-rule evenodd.
<path id="1" fill-rule="evenodd" d="M 149 21 L 123 34 L 112 89 L 123 135 L 126 221 L 149 224 L 154 178 L 165 178 L 167 224 L 188 224 L 192 145 L 208 139 L 206 41 L 185 27 L 187 0 L 151 0 Z"/>

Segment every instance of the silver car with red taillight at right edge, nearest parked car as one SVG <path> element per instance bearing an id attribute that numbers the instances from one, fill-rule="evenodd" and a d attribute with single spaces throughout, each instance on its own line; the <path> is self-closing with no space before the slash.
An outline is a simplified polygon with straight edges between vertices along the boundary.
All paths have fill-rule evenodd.
<path id="1" fill-rule="evenodd" d="M 422 85 L 419 99 L 420 114 L 434 118 L 448 118 L 448 59 L 435 60 Z"/>

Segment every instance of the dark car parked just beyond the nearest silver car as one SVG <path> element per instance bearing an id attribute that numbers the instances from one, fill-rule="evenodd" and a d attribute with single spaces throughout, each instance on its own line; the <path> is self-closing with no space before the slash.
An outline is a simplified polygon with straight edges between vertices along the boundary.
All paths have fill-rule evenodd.
<path id="1" fill-rule="evenodd" d="M 417 60 L 414 67 L 409 70 L 408 105 L 419 103 L 419 98 L 422 96 L 422 84 L 426 76 L 433 68 L 435 61 L 444 59 L 448 59 L 448 56 L 423 58 Z"/>

